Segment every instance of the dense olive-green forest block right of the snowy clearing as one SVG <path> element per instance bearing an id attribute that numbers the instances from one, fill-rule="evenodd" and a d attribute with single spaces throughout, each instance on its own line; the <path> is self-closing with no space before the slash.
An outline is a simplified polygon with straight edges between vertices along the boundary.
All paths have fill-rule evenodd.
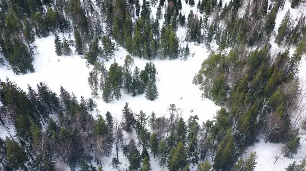
<path id="1" fill-rule="evenodd" d="M 258 135 L 264 135 L 264 143 L 285 143 L 283 154 L 286 157 L 292 158 L 297 153 L 300 146 L 298 121 L 292 120 L 293 110 L 300 100 L 297 74 L 305 52 L 304 41 L 298 43 L 292 55 L 285 50 L 274 57 L 270 54 L 270 45 L 249 50 L 245 42 L 228 54 L 213 51 L 203 61 L 193 83 L 200 85 L 203 97 L 224 107 L 217 113 L 216 123 L 208 123 L 207 129 L 212 125 L 217 129 L 205 144 L 221 142 L 216 156 L 218 150 L 224 155 L 225 148 L 231 146 L 229 153 L 233 158 L 228 169 L 232 168 L 235 157 L 258 141 Z M 200 155 L 207 152 L 205 149 Z M 215 164 L 218 163 L 215 161 Z"/>

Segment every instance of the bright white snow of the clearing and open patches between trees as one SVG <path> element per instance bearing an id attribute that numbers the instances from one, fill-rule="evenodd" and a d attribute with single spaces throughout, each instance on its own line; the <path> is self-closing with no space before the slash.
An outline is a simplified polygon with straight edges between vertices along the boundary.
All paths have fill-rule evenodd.
<path id="1" fill-rule="evenodd" d="M 223 1 L 223 5 L 228 0 Z M 142 3 L 142 1 L 140 1 Z M 167 3 L 167 1 L 166 1 Z M 198 0 L 195 1 L 195 4 L 198 3 Z M 269 1 L 269 4 L 271 2 Z M 189 11 L 192 9 L 196 12 L 196 5 L 190 7 L 186 5 L 185 1 L 182 0 L 182 14 L 188 16 Z M 243 7 L 242 7 L 243 8 Z M 280 10 L 277 14 L 276 24 L 274 31 L 277 32 L 278 26 L 283 19 L 285 13 L 290 9 L 290 2 L 287 0 L 283 10 Z M 296 18 L 306 10 L 306 5 L 301 5 L 298 9 L 290 9 L 291 15 L 293 18 Z M 156 16 L 156 8 L 152 8 L 152 16 Z M 164 12 L 164 10 L 162 10 Z M 200 16 L 199 13 L 197 13 Z M 162 25 L 163 19 L 160 21 Z M 177 31 L 177 36 L 184 40 L 185 38 L 185 28 L 179 27 Z M 59 35 L 60 37 L 62 34 Z M 66 35 L 67 36 L 67 35 Z M 73 35 L 71 35 L 73 37 Z M 38 54 L 35 55 L 35 73 L 25 74 L 25 75 L 14 75 L 12 71 L 7 70 L 5 66 L 0 67 L 0 79 L 5 80 L 9 78 L 11 81 L 14 81 L 20 88 L 24 91 L 27 91 L 27 85 L 36 87 L 36 84 L 39 82 L 44 82 L 48 85 L 52 91 L 59 94 L 60 85 L 62 85 L 67 91 L 73 92 L 78 99 L 83 95 L 85 98 L 91 97 L 91 90 L 87 83 L 88 73 L 91 71 L 91 68 L 86 66 L 86 60 L 83 59 L 80 55 L 73 56 L 57 56 L 55 54 L 54 47 L 54 36 L 49 36 L 43 39 L 36 39 L 36 44 L 38 46 Z M 282 51 L 282 47 L 277 47 L 271 41 L 272 50 L 271 53 L 277 53 Z M 182 43 L 182 47 L 186 46 L 186 42 Z M 216 48 L 216 45 L 212 46 L 213 49 Z M 200 69 L 201 62 L 205 60 L 209 54 L 206 47 L 203 45 L 195 46 L 194 43 L 189 43 L 189 48 L 191 54 L 195 52 L 195 55 L 188 58 L 187 61 L 177 59 L 177 60 L 154 60 L 156 65 L 158 77 L 157 77 L 157 87 L 159 90 L 159 97 L 154 101 L 147 100 L 144 95 L 138 95 L 132 97 L 131 95 L 126 95 L 122 93 L 122 97 L 119 100 L 114 100 L 109 104 L 103 102 L 103 100 L 95 99 L 98 110 L 104 115 L 107 111 L 111 112 L 114 117 L 120 119 L 122 115 L 122 109 L 125 105 L 125 102 L 129 102 L 129 107 L 134 111 L 139 113 L 140 110 L 146 112 L 149 115 L 154 111 L 158 116 L 166 115 L 167 107 L 170 104 L 175 104 L 177 108 L 180 108 L 182 111 L 182 116 L 187 120 L 190 115 L 198 115 L 200 124 L 202 121 L 207 119 L 212 119 L 214 114 L 220 107 L 214 105 L 209 99 L 201 98 L 201 91 L 198 86 L 195 86 L 191 83 L 194 74 Z M 74 49 L 72 49 L 74 50 Z M 293 53 L 294 49 L 291 50 Z M 119 48 L 115 52 L 115 57 L 111 61 L 106 62 L 107 69 L 113 63 L 114 59 L 120 64 L 123 65 L 123 60 L 127 52 Z M 134 58 L 135 66 L 138 66 L 139 69 L 143 69 L 145 63 L 148 62 L 144 59 Z M 90 66 L 91 67 L 91 66 Z M 306 80 L 306 60 L 302 58 L 302 66 L 300 68 L 300 77 L 302 81 Z M 93 115 L 96 113 L 93 112 Z M 14 134 L 12 128 L 10 129 L 11 134 Z M 0 137 L 4 138 L 8 135 L 7 130 L 0 128 Z M 127 138 L 135 136 L 134 134 L 126 134 Z M 302 135 L 301 143 L 305 139 L 305 135 Z M 303 143 L 306 144 L 306 143 Z M 260 141 L 256 145 L 249 147 L 247 153 L 256 151 L 258 155 L 256 171 L 262 170 L 284 170 L 289 163 L 293 161 L 299 162 L 301 158 L 306 156 L 306 146 L 303 145 L 301 149 L 298 150 L 298 154 L 295 155 L 295 158 L 289 159 L 281 155 L 281 159 L 278 159 L 274 164 L 275 154 L 279 154 L 281 151 L 282 144 L 264 144 L 263 141 Z M 121 154 L 121 155 L 120 155 Z M 129 164 L 126 157 L 119 153 L 119 160 L 122 162 L 121 168 L 126 168 Z M 109 166 L 111 158 L 105 158 L 104 161 L 104 170 L 115 170 Z M 160 168 L 157 161 L 154 161 L 151 158 L 151 168 L 153 171 L 167 170 L 167 168 Z M 59 162 L 60 163 L 60 162 Z M 64 166 L 63 166 L 64 167 Z M 190 167 L 191 168 L 191 167 Z M 70 170 L 66 168 L 66 170 Z M 195 168 L 191 168 L 195 170 Z"/>

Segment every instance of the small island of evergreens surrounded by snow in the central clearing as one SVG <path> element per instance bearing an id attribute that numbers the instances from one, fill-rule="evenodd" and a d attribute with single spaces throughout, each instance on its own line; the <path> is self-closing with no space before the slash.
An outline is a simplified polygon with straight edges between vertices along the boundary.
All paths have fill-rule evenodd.
<path id="1" fill-rule="evenodd" d="M 91 88 L 91 94 L 94 98 L 101 97 L 105 102 L 110 102 L 121 98 L 121 90 L 126 94 L 136 96 L 145 93 L 149 100 L 155 100 L 158 97 L 156 86 L 156 67 L 153 62 L 147 62 L 144 70 L 139 71 L 134 67 L 134 59 L 126 55 L 124 65 L 120 66 L 116 60 L 111 64 L 109 70 L 106 69 L 103 61 L 95 62 L 93 70 L 89 73 L 88 84 Z"/>

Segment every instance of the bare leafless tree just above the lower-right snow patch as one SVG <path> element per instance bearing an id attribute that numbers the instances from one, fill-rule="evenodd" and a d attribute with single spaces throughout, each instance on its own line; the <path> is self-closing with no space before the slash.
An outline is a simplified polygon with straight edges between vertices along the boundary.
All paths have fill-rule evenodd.
<path id="1" fill-rule="evenodd" d="M 282 118 L 275 113 L 269 113 L 266 117 L 267 133 L 264 143 L 267 143 L 272 134 L 279 134 L 283 131 L 284 122 Z"/>

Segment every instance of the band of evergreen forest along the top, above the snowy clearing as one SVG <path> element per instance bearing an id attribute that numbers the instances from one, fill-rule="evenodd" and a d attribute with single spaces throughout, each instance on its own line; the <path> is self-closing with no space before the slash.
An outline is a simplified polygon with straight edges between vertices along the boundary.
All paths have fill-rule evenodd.
<path id="1" fill-rule="evenodd" d="M 193 0 L 185 2 L 195 5 Z M 244 3 L 247 6 L 244 15 L 240 16 L 238 9 Z M 300 0 L 292 0 L 291 7 L 297 8 L 300 3 Z M 185 26 L 185 20 L 186 40 L 189 42 L 209 45 L 215 40 L 221 49 L 244 42 L 250 46 L 265 45 L 273 33 L 276 13 L 284 4 L 285 0 L 277 0 L 269 7 L 267 0 L 237 0 L 224 5 L 222 1 L 202 0 L 197 3 L 200 16 L 190 11 L 186 19 L 181 13 L 181 0 L 167 3 L 162 0 L 159 4 L 156 0 L 146 0 L 142 4 L 136 0 L 3 0 L 0 2 L 0 63 L 9 64 L 15 74 L 34 72 L 34 37 L 45 38 L 59 32 L 74 32 L 75 51 L 84 54 L 91 64 L 97 57 L 106 61 L 112 58 L 114 43 L 111 38 L 133 56 L 175 59 L 184 54 L 176 30 Z M 151 7 L 157 5 L 156 18 L 152 18 Z M 164 15 L 162 8 L 165 9 Z M 304 39 L 304 16 L 298 19 L 298 24 L 288 16 L 278 29 L 275 42 L 294 46 Z M 164 23 L 160 28 L 159 19 L 163 17 Z M 55 42 L 57 55 L 71 54 L 71 44 L 67 40 L 61 43 L 56 36 Z M 103 43 L 103 50 L 99 42 Z"/>

